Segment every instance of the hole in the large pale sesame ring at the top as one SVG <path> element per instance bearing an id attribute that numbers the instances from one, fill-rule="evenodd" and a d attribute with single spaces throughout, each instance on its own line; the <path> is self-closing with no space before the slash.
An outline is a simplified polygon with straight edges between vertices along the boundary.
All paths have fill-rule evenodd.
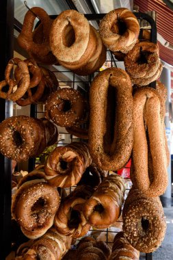
<path id="1" fill-rule="evenodd" d="M 62 31 L 62 42 L 64 46 L 70 47 L 75 42 L 75 30 L 73 29 L 72 25 L 68 23 L 64 30 Z"/>

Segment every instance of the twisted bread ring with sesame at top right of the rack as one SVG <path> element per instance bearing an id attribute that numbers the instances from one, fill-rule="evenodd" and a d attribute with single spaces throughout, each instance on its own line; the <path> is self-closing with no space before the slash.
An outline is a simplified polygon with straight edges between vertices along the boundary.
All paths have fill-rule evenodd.
<path id="1" fill-rule="evenodd" d="M 122 31 L 120 23 L 125 24 L 126 30 Z M 127 53 L 127 48 L 133 48 L 139 36 L 139 23 L 135 15 L 127 8 L 118 8 L 106 14 L 100 23 L 100 35 L 103 43 L 111 51 Z M 128 49 L 129 51 L 129 49 Z"/>

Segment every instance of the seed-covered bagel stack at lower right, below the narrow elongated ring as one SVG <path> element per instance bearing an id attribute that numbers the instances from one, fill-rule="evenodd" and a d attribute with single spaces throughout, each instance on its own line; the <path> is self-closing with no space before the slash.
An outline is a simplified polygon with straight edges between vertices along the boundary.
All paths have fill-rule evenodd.
<path id="1" fill-rule="evenodd" d="M 123 209 L 124 237 L 140 252 L 153 252 L 165 236 L 166 223 L 159 197 L 146 198 L 133 189 Z"/>

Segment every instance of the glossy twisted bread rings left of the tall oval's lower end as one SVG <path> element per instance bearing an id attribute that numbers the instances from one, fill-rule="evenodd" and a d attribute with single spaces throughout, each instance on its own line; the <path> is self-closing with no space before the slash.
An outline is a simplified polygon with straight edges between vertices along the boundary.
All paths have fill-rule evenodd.
<path id="1" fill-rule="evenodd" d="M 70 187 L 80 181 L 91 162 L 88 144 L 72 142 L 66 146 L 58 146 L 49 154 L 44 171 L 50 185 Z"/>

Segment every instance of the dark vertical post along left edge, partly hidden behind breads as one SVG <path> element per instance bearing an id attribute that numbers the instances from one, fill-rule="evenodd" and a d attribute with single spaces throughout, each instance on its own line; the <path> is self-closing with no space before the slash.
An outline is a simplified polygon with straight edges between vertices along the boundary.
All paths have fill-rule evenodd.
<path id="1" fill-rule="evenodd" d="M 13 57 L 13 18 L 14 0 L 0 1 L 0 81 L 4 79 L 5 67 Z M 12 102 L 0 99 L 1 113 L 0 122 L 12 116 Z M 0 155 L 1 182 L 0 182 L 0 230 L 1 259 L 5 259 L 11 248 L 11 160 Z"/>

